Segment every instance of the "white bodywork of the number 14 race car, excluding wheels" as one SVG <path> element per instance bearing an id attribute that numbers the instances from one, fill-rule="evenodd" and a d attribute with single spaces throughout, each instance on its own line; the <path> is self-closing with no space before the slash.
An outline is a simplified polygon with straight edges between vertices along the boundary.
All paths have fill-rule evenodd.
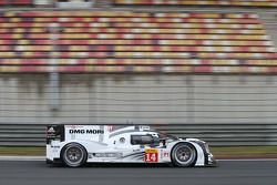
<path id="1" fill-rule="evenodd" d="M 54 162 L 60 160 L 63 146 L 69 143 L 79 143 L 88 152 L 86 162 L 107 163 L 171 163 L 171 152 L 177 143 L 191 143 L 196 152 L 195 166 L 213 163 L 213 155 L 208 152 L 205 142 L 196 138 L 166 138 L 150 126 L 124 125 L 63 125 L 61 138 L 51 138 L 47 144 L 47 158 Z M 48 134 L 55 127 L 48 127 Z M 158 138 L 155 144 L 132 143 L 136 136 L 152 136 Z M 201 144 L 202 143 L 202 144 Z M 205 147 L 205 148 L 204 148 Z M 206 157 L 206 163 L 205 163 Z"/>

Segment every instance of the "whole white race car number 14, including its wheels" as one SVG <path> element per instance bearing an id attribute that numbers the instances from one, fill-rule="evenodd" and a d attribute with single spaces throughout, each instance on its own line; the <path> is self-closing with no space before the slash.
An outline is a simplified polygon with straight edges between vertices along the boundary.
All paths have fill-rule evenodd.
<path id="1" fill-rule="evenodd" d="M 78 167 L 85 163 L 168 163 L 215 166 L 208 145 L 145 125 L 49 125 L 47 162 Z"/>

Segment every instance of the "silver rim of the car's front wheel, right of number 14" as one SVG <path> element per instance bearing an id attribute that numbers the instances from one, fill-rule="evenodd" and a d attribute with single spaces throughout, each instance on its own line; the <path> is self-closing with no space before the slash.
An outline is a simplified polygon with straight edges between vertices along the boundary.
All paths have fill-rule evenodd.
<path id="1" fill-rule="evenodd" d="M 175 150 L 175 158 L 182 165 L 189 165 L 195 158 L 195 152 L 186 145 L 177 146 Z"/>

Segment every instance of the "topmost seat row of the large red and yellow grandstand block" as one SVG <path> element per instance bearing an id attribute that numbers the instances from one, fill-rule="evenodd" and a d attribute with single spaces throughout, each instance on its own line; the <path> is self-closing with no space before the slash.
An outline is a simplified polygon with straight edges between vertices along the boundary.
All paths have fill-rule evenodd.
<path id="1" fill-rule="evenodd" d="M 211 18 L 211 19 L 258 19 L 255 13 L 206 13 L 206 12 L 133 12 L 133 11 L 6 11 L 1 12 L 3 19 L 13 18 L 17 20 L 41 20 L 51 18 L 54 20 L 71 20 L 74 18 L 104 19 L 104 18 Z M 80 21 L 80 20 L 78 20 Z"/>

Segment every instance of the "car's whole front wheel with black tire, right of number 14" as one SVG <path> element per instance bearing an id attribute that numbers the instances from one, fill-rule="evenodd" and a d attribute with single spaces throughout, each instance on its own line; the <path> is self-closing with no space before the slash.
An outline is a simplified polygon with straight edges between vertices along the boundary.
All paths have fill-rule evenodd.
<path id="1" fill-rule="evenodd" d="M 189 167 L 194 166 L 197 153 L 191 143 L 178 143 L 173 147 L 171 158 L 174 166 Z"/>

